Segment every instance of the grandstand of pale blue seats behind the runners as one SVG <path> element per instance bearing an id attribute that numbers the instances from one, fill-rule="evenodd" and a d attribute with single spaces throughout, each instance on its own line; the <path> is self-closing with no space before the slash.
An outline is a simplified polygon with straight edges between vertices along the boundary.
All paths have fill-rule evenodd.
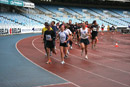
<path id="1" fill-rule="evenodd" d="M 34 4 L 33 0 L 18 1 L 19 3 L 27 3 L 27 5 L 9 5 L 1 2 L 0 27 L 42 28 L 45 22 L 68 22 L 69 19 L 73 23 L 88 21 L 90 24 L 93 20 L 97 20 L 99 25 L 104 24 L 105 27 L 108 25 L 127 27 L 130 24 L 129 9 L 51 5 L 51 0 L 50 4 L 45 2 L 43 4 Z M 63 10 L 60 11 L 60 8 Z"/>

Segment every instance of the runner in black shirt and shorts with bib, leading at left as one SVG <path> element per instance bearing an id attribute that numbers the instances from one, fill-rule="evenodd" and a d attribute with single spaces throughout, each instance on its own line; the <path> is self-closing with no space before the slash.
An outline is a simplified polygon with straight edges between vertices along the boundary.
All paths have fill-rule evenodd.
<path id="1" fill-rule="evenodd" d="M 50 64 L 51 63 L 50 50 L 52 50 L 52 52 L 56 54 L 56 51 L 54 49 L 54 46 L 55 46 L 54 41 L 55 41 L 56 35 L 55 35 L 55 32 L 51 29 L 49 24 L 46 26 L 46 28 L 47 30 L 44 33 L 44 42 L 46 42 L 45 46 L 46 46 L 47 58 L 48 58 L 48 61 L 46 63 Z"/>

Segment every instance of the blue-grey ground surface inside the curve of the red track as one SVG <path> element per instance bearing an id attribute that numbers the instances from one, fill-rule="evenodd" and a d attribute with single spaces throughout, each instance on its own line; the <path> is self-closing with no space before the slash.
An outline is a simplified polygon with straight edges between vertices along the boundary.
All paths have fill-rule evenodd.
<path id="1" fill-rule="evenodd" d="M 0 37 L 0 87 L 35 87 L 69 83 L 34 65 L 17 51 L 16 43 L 19 40 L 36 35 L 40 34 Z"/>

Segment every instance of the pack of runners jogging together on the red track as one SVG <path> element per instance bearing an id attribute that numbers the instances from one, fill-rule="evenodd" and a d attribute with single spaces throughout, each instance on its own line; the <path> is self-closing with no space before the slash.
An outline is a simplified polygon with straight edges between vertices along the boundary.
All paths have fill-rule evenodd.
<path id="1" fill-rule="evenodd" d="M 64 59 L 68 57 L 69 50 L 72 50 L 72 44 L 79 45 L 81 47 L 81 55 L 85 52 L 85 59 L 88 59 L 87 48 L 90 44 L 89 39 L 92 39 L 92 49 L 96 47 L 97 35 L 98 35 L 99 26 L 96 20 L 92 24 L 88 22 L 72 24 L 72 20 L 69 20 L 69 23 L 64 23 L 59 25 L 55 21 L 52 21 L 51 24 L 45 22 L 45 27 L 42 29 L 42 37 L 44 42 L 44 48 L 48 58 L 47 64 L 50 64 L 51 61 L 51 52 L 57 54 L 55 41 L 59 40 L 60 53 L 61 53 L 61 64 L 65 64 Z"/>

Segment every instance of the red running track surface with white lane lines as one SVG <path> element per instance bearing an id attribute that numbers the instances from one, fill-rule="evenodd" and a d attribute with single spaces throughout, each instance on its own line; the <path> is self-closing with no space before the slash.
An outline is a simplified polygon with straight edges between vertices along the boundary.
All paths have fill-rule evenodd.
<path id="1" fill-rule="evenodd" d="M 116 41 L 119 44 L 115 48 Z M 73 45 L 66 64 L 60 64 L 59 43 L 53 63 L 46 64 L 42 38 L 25 38 L 17 43 L 18 50 L 29 60 L 68 80 L 70 84 L 41 87 L 130 87 L 130 35 L 105 32 L 99 35 L 97 49 L 88 47 L 88 60 L 81 56 L 80 48 Z"/>

